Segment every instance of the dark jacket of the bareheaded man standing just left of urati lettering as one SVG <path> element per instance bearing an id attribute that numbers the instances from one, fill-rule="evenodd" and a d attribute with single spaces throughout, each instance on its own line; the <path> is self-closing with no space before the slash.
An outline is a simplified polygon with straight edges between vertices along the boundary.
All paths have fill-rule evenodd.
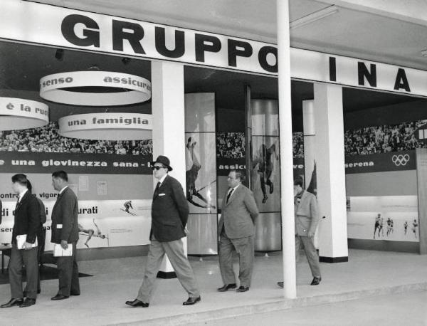
<path id="1" fill-rule="evenodd" d="M 73 190 L 65 188 L 52 209 L 51 242 L 78 241 L 78 200 Z"/>

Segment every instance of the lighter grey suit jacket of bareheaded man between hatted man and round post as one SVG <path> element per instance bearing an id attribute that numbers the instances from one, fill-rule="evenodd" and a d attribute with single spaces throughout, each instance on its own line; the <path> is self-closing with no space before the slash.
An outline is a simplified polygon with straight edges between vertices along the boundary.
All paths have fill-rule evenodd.
<path id="1" fill-rule="evenodd" d="M 255 234 L 255 219 L 259 211 L 253 192 L 243 184 L 231 194 L 227 203 L 228 191 L 223 198 L 219 232 L 225 227 L 228 238 L 246 238 Z"/>

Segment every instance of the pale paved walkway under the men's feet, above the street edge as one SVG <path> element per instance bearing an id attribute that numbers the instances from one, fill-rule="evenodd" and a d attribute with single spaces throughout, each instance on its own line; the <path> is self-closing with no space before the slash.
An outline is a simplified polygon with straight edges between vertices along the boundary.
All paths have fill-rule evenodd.
<path id="1" fill-rule="evenodd" d="M 216 288 L 222 285 L 217 258 L 204 258 L 203 261 L 191 258 L 201 288 L 201 303 L 184 307 L 182 302 L 187 295 L 179 281 L 172 279 L 157 281 L 157 291 L 149 308 L 127 307 L 125 301 L 137 295 L 145 259 L 80 262 L 80 271 L 94 276 L 80 278 L 82 294 L 79 297 L 51 301 L 51 296 L 57 292 L 58 281 L 43 281 L 37 304 L 24 309 L 1 310 L 0 324 L 140 325 L 143 322 L 144 325 L 179 325 L 195 320 L 390 294 L 401 291 L 399 285 L 422 284 L 427 289 L 427 258 L 416 254 L 352 250 L 348 263 L 321 263 L 322 283 L 318 286 L 309 285 L 312 279 L 310 269 L 302 259 L 302 263 L 297 265 L 298 300 L 283 300 L 283 291 L 276 285 L 282 273 L 280 253 L 255 258 L 253 284 L 246 293 L 216 292 Z M 7 302 L 9 298 L 9 285 L 0 285 L 0 303 Z"/>

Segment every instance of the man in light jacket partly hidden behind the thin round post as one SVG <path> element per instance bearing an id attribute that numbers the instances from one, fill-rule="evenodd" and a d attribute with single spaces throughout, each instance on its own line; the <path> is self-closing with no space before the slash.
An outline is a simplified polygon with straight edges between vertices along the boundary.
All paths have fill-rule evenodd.
<path id="1" fill-rule="evenodd" d="M 317 224 L 319 224 L 317 200 L 314 194 L 302 188 L 302 184 L 302 179 L 294 180 L 296 261 L 298 261 L 300 246 L 302 246 L 313 276 L 310 285 L 319 285 L 322 277 L 320 275 L 319 256 L 317 256 L 313 241 Z M 278 282 L 278 285 L 283 288 L 283 282 Z"/>

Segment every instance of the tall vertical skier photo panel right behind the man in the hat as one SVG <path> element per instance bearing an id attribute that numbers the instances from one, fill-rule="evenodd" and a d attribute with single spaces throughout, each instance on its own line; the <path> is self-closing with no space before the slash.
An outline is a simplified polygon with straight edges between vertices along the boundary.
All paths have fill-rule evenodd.
<path id="1" fill-rule="evenodd" d="M 215 255 L 216 137 L 215 94 L 185 95 L 186 199 L 189 201 L 188 252 Z"/>

